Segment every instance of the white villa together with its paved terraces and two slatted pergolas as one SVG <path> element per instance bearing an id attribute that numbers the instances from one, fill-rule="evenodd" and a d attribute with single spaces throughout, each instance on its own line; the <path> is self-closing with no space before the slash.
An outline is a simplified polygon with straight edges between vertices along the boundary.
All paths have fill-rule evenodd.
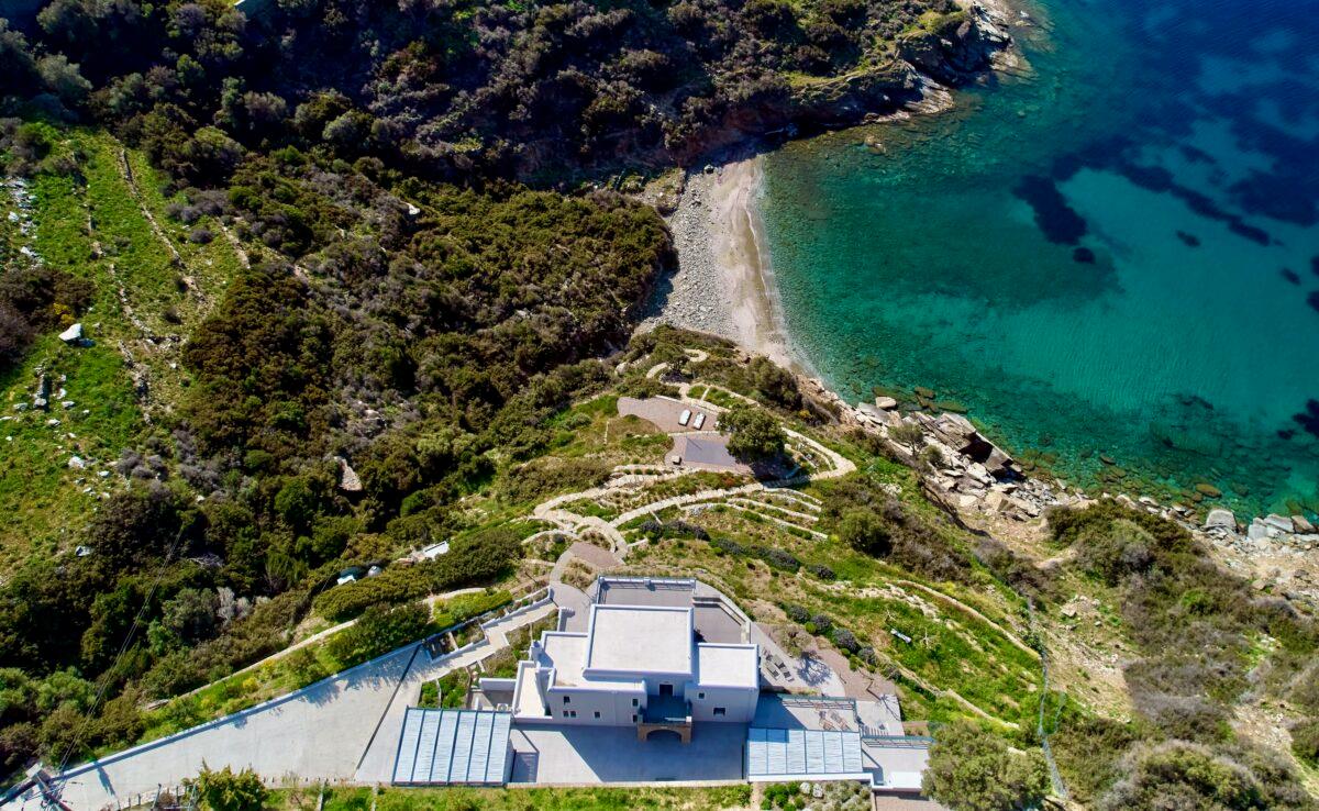
<path id="1" fill-rule="evenodd" d="M 481 678 L 466 709 L 408 709 L 394 785 L 855 781 L 938 807 L 919 798 L 930 738 L 905 733 L 894 688 L 785 691 L 787 654 L 699 580 L 555 588 L 555 628 L 513 678 Z"/>

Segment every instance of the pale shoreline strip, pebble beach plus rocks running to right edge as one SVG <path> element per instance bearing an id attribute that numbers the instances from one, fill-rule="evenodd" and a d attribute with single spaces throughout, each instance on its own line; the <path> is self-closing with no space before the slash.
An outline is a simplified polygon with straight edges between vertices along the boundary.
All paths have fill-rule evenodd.
<path id="1" fill-rule="evenodd" d="M 1319 559 L 1311 556 L 1319 549 L 1319 534 L 1299 516 L 1239 517 L 1213 504 L 1161 504 L 1148 496 L 1136 498 L 1101 487 L 1087 492 L 1049 471 L 1031 471 L 1008 484 L 995 484 L 984 475 L 983 466 L 963 459 L 960 443 L 948 444 L 938 430 L 939 423 L 962 422 L 960 415 L 904 413 L 882 402 L 888 400 L 882 397 L 874 405 L 844 401 L 794 351 L 783 326 L 757 208 L 764 185 L 762 161 L 760 156 L 735 158 L 686 177 L 678 206 L 666 218 L 678 252 L 678 270 L 661 284 L 661 294 L 650 315 L 638 324 L 640 331 L 667 323 L 727 338 L 749 355 L 768 356 L 793 371 L 802 392 L 831 402 L 831 410 L 844 425 L 886 439 L 888 429 L 900 422 L 918 427 L 923 444 L 938 446 L 946 459 L 958 460 L 950 469 L 921 473 L 929 485 L 927 495 L 981 531 L 1012 539 L 1022 531 L 1038 531 L 1049 509 L 1115 500 L 1183 526 L 1215 550 L 1224 566 L 1250 578 L 1257 588 L 1268 586 L 1319 604 Z M 969 423 L 966 426 L 969 430 Z M 914 452 L 911 464 L 919 469 Z"/>

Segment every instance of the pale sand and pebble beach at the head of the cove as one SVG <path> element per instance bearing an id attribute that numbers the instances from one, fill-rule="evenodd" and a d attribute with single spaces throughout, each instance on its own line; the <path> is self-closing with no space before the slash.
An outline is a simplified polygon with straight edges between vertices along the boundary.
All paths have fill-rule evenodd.
<path id="1" fill-rule="evenodd" d="M 667 323 L 712 332 L 799 368 L 783 330 L 765 228 L 756 208 L 760 157 L 692 173 L 669 218 L 678 270 L 662 285 L 642 328 Z"/>

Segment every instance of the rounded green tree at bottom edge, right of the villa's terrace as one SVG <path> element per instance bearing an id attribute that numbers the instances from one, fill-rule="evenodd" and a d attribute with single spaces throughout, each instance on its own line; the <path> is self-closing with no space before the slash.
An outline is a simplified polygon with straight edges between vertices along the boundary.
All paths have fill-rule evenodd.
<path id="1" fill-rule="evenodd" d="M 935 737 L 921 787 L 952 811 L 1017 811 L 1039 804 L 1049 774 L 1038 752 L 1013 752 L 1002 738 L 963 720 Z"/>

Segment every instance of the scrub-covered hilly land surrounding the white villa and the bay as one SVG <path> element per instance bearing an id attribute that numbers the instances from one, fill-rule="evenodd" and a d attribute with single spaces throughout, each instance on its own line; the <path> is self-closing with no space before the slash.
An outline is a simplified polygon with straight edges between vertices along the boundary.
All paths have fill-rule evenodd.
<path id="1" fill-rule="evenodd" d="M 954 447 L 983 450 L 956 421 L 896 425 L 708 335 L 634 334 L 694 270 L 689 240 L 758 257 L 754 165 L 707 173 L 716 150 L 943 103 L 1006 42 L 979 5 L 885 0 L 313 0 L 251 17 L 70 0 L 0 21 L 4 773 L 251 707 L 505 599 L 458 592 L 526 593 L 563 553 L 538 505 L 665 464 L 671 438 L 617 397 L 687 385 L 772 414 L 756 421 L 770 439 L 805 438 L 793 464 L 849 467 L 803 485 L 830 505 L 795 518 L 811 527 L 744 521 L 737 502 L 620 521 L 645 542 L 629 564 L 714 571 L 757 620 L 900 679 L 917 717 L 973 716 L 1013 769 L 1006 748 L 1038 749 L 1046 707 L 1078 795 L 1133 807 L 1211 767 L 1250 796 L 1299 796 L 1315 757 L 1302 600 L 1215 579 L 1149 510 L 1059 488 L 1087 517 L 1046 527 L 1030 512 L 1053 485 L 998 481 Z M 675 164 L 692 207 L 740 224 L 670 231 L 619 194 Z M 681 215 L 669 181 L 656 202 Z M 690 318 L 710 320 L 694 326 L 790 360 L 765 265 L 743 269 L 698 273 Z M 605 489 L 638 509 L 725 479 Z M 1005 541 L 946 509 L 964 497 L 1005 505 Z M 1049 692 L 1021 640 L 1064 651 Z"/>

